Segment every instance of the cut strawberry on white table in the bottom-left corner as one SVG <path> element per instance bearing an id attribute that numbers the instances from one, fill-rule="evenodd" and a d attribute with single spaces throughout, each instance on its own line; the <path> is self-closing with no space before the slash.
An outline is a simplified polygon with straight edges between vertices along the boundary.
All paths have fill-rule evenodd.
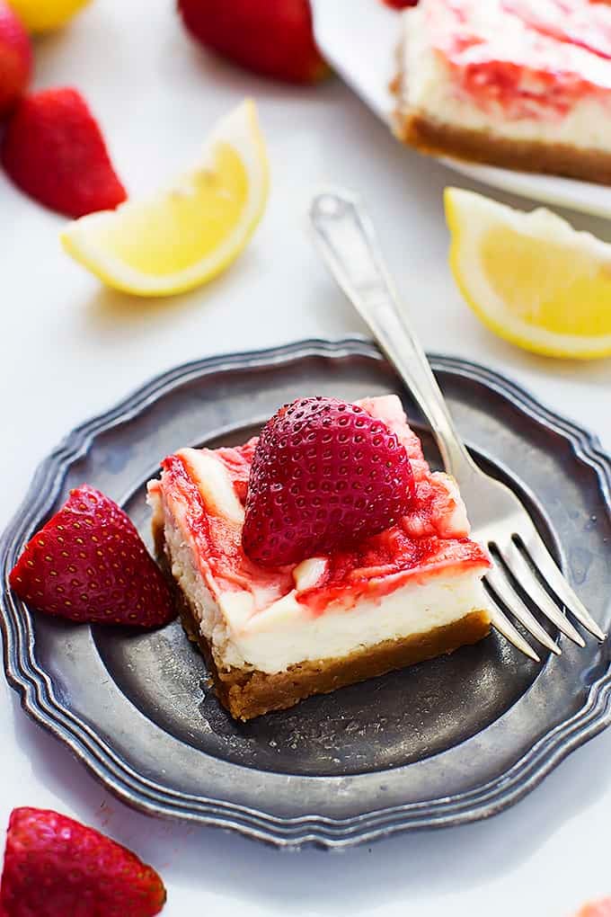
<path id="1" fill-rule="evenodd" d="M 165 900 L 155 870 L 104 834 L 46 809 L 11 813 L 5 917 L 153 917 Z"/>

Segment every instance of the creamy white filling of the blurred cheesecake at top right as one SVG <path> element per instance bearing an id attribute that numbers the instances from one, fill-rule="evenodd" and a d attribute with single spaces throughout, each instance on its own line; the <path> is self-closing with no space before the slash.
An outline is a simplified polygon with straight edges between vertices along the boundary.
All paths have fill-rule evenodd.
<path id="1" fill-rule="evenodd" d="M 611 102 L 604 98 L 585 96 L 562 116 L 508 117 L 501 105 L 484 108 L 460 92 L 452 67 L 433 45 L 427 20 L 428 5 L 428 0 L 420 0 L 418 6 L 403 14 L 400 109 L 404 115 L 417 113 L 439 124 L 488 131 L 511 140 L 564 143 L 576 149 L 611 149 Z M 477 16 L 487 20 L 485 28 L 507 33 L 507 43 L 514 41 L 518 48 L 518 20 L 504 16 L 498 0 L 480 0 Z M 567 62 L 572 63 L 577 72 L 580 69 L 593 72 L 601 84 L 607 83 L 611 99 L 610 61 L 588 50 L 562 44 L 558 69 L 562 71 Z M 540 91 L 540 87 L 532 88 Z"/>

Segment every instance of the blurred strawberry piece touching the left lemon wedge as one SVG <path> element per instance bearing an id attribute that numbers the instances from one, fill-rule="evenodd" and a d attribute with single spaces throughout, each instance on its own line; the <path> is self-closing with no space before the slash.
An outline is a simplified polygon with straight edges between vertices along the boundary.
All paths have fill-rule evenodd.
<path id="1" fill-rule="evenodd" d="M 22 99 L 0 156 L 22 191 L 60 214 L 114 210 L 125 201 L 100 127 L 75 89 L 45 89 Z"/>

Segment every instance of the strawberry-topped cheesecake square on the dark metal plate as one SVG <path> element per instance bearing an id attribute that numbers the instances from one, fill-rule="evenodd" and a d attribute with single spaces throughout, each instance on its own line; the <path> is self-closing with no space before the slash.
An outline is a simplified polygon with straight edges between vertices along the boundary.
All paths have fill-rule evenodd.
<path id="1" fill-rule="evenodd" d="M 183 623 L 236 719 L 488 633 L 489 560 L 395 395 L 302 399 L 244 446 L 180 449 L 148 500 Z"/>

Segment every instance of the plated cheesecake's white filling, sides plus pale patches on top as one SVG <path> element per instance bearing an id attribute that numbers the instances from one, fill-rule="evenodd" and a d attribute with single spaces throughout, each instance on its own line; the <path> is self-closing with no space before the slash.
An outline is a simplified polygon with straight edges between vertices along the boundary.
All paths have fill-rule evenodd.
<path id="1" fill-rule="evenodd" d="M 458 487 L 442 472 L 431 474 L 421 455 L 420 443 L 409 429 L 396 395 L 362 402 L 373 416 L 394 429 L 408 448 L 419 486 L 430 488 L 435 500 L 435 518 L 418 512 L 409 514 L 405 525 L 414 537 L 436 534 L 463 538 L 469 523 Z M 178 453 L 186 463 L 202 495 L 210 520 L 220 520 L 221 533 L 231 530 L 239 537 L 244 508 L 236 497 L 232 479 L 214 452 L 185 448 Z M 414 574 L 402 582 L 402 574 L 387 576 L 386 595 L 335 602 L 317 613 L 299 602 L 299 593 L 315 589 L 324 581 L 327 558 L 310 558 L 292 570 L 292 583 L 285 580 L 284 594 L 274 578 L 220 579 L 206 558 L 197 556 L 186 518 L 187 505 L 175 499 L 172 488 L 164 492 L 162 481 L 151 481 L 148 503 L 153 521 L 163 526 L 171 572 L 190 603 L 202 635 L 211 646 L 218 668 L 256 668 L 273 673 L 300 662 L 348 657 L 389 640 L 399 640 L 453 624 L 473 611 L 486 610 L 486 592 L 481 584 L 485 564 L 465 565 Z M 394 582 L 393 582 L 394 580 Z"/>

